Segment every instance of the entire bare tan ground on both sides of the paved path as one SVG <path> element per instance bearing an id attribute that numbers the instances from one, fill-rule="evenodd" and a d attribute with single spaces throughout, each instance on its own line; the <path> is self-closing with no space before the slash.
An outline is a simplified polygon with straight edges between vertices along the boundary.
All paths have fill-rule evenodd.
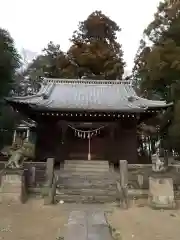
<path id="1" fill-rule="evenodd" d="M 44 206 L 43 200 L 26 204 L 0 204 L 0 240 L 56 240 L 64 235 L 72 210 L 107 211 L 108 222 L 122 240 L 179 240 L 180 210 L 162 211 L 132 206 L 58 204 Z"/>

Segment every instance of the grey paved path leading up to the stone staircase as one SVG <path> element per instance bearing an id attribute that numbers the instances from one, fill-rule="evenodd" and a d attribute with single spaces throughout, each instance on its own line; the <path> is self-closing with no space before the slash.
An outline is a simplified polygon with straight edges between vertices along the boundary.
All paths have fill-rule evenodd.
<path id="1" fill-rule="evenodd" d="M 64 240 L 112 240 L 103 211 L 72 211 Z"/>

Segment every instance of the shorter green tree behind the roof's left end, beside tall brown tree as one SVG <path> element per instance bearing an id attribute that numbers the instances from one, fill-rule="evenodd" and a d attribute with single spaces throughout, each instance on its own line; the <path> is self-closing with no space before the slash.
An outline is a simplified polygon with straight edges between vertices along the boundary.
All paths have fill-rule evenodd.
<path id="1" fill-rule="evenodd" d="M 25 96 L 38 92 L 42 77 L 60 77 L 57 66 L 57 59 L 63 54 L 60 46 L 49 42 L 43 49 L 42 54 L 36 56 L 32 62 L 27 63 L 26 68 L 22 68 L 16 74 L 16 86 L 13 94 Z"/>

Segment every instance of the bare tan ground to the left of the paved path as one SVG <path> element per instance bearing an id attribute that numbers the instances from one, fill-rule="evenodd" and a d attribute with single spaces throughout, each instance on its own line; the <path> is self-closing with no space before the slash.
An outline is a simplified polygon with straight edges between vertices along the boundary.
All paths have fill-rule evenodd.
<path id="1" fill-rule="evenodd" d="M 63 235 L 69 212 L 42 200 L 0 204 L 0 240 L 55 240 Z"/>

